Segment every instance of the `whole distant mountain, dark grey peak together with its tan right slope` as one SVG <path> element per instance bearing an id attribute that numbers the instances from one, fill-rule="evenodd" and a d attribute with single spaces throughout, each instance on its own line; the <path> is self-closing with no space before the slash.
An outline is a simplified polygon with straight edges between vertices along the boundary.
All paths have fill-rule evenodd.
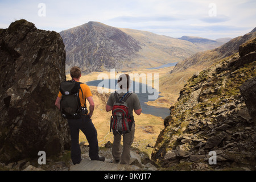
<path id="1" fill-rule="evenodd" d="M 175 63 L 206 49 L 223 44 L 214 40 L 195 43 L 152 32 L 115 28 L 89 22 L 60 32 L 66 47 L 66 71 L 77 65 L 84 73 L 115 68 L 158 67 Z"/>

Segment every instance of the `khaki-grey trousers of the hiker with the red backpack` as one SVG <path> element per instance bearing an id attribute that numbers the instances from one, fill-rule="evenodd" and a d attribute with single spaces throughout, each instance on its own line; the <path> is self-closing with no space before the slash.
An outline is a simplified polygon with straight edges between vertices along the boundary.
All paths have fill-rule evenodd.
<path id="1" fill-rule="evenodd" d="M 135 133 L 135 124 L 131 127 L 130 133 L 123 136 L 123 151 L 120 146 L 122 135 L 114 135 L 114 142 L 112 147 L 112 155 L 115 160 L 121 160 L 120 164 L 129 164 L 131 144 L 133 143 Z"/>

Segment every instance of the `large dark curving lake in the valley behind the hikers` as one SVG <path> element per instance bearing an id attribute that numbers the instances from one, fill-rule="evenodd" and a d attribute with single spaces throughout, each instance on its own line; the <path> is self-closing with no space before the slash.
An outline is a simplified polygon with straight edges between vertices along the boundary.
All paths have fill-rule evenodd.
<path id="1" fill-rule="evenodd" d="M 104 88 L 109 89 L 110 82 L 113 82 L 113 81 L 115 82 L 115 85 L 117 85 L 117 80 L 110 80 L 109 79 L 109 80 L 105 80 L 105 81 L 109 82 L 109 84 L 105 84 Z M 102 82 L 102 80 L 93 80 L 93 81 L 86 82 L 86 84 L 88 86 L 98 86 L 101 82 Z M 152 115 L 155 115 L 157 117 L 162 117 L 163 119 L 166 118 L 170 114 L 170 110 L 166 107 L 149 106 L 149 105 L 144 103 L 144 102 L 148 102 L 148 101 L 154 101 L 154 100 L 148 100 L 148 96 L 154 95 L 154 93 L 152 93 L 152 94 L 148 93 L 148 90 L 152 90 L 154 88 L 152 88 L 151 86 L 142 84 L 142 83 L 135 82 L 135 81 L 133 82 L 133 84 L 134 85 L 131 88 L 133 88 L 133 90 L 132 90 L 133 93 L 136 93 L 139 97 L 139 101 L 141 102 L 141 107 L 142 107 L 142 113 L 152 114 Z M 135 85 L 139 85 L 139 87 L 135 86 Z M 112 89 L 114 89 L 113 85 L 111 87 L 112 87 Z M 144 89 L 146 88 L 146 93 L 142 93 L 143 88 Z M 154 92 L 158 92 L 158 91 L 156 89 L 154 89 Z M 159 96 L 159 97 L 161 97 L 161 96 Z"/>

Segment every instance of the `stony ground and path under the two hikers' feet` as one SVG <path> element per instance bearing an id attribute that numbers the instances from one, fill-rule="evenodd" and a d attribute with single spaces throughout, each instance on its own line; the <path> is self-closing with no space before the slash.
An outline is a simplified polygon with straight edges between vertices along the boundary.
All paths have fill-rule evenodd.
<path id="1" fill-rule="evenodd" d="M 70 151 L 61 152 L 58 156 L 46 159 L 46 164 L 39 165 L 38 159 L 24 159 L 19 162 L 0 163 L 0 171 L 156 171 L 158 166 L 147 155 L 133 148 L 131 151 L 130 165 L 114 164 L 112 157 L 112 144 L 100 147 L 99 155 L 105 156 L 105 162 L 91 161 L 89 158 L 89 146 L 80 143 L 82 162 L 72 164 Z"/>

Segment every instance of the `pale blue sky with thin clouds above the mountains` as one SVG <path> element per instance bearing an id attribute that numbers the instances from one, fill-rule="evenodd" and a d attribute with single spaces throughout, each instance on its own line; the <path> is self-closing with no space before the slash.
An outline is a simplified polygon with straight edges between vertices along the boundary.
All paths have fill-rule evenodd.
<path id="1" fill-rule="evenodd" d="M 26 19 L 60 32 L 89 21 L 180 38 L 236 38 L 256 27 L 255 0 L 0 0 L 0 28 Z"/>

